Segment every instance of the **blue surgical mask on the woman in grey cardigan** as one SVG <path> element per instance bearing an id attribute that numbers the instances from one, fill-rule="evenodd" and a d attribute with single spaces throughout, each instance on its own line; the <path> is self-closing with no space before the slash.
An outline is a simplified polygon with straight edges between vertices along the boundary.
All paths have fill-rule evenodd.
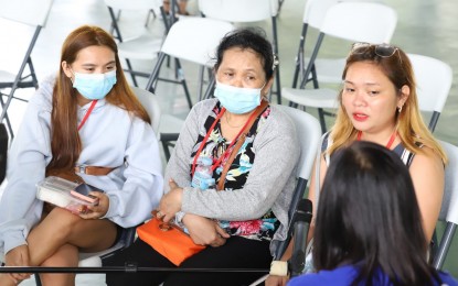
<path id="1" fill-rule="evenodd" d="M 260 90 L 262 88 L 242 88 L 216 81 L 214 96 L 228 112 L 243 114 L 253 111 L 260 105 Z"/>

